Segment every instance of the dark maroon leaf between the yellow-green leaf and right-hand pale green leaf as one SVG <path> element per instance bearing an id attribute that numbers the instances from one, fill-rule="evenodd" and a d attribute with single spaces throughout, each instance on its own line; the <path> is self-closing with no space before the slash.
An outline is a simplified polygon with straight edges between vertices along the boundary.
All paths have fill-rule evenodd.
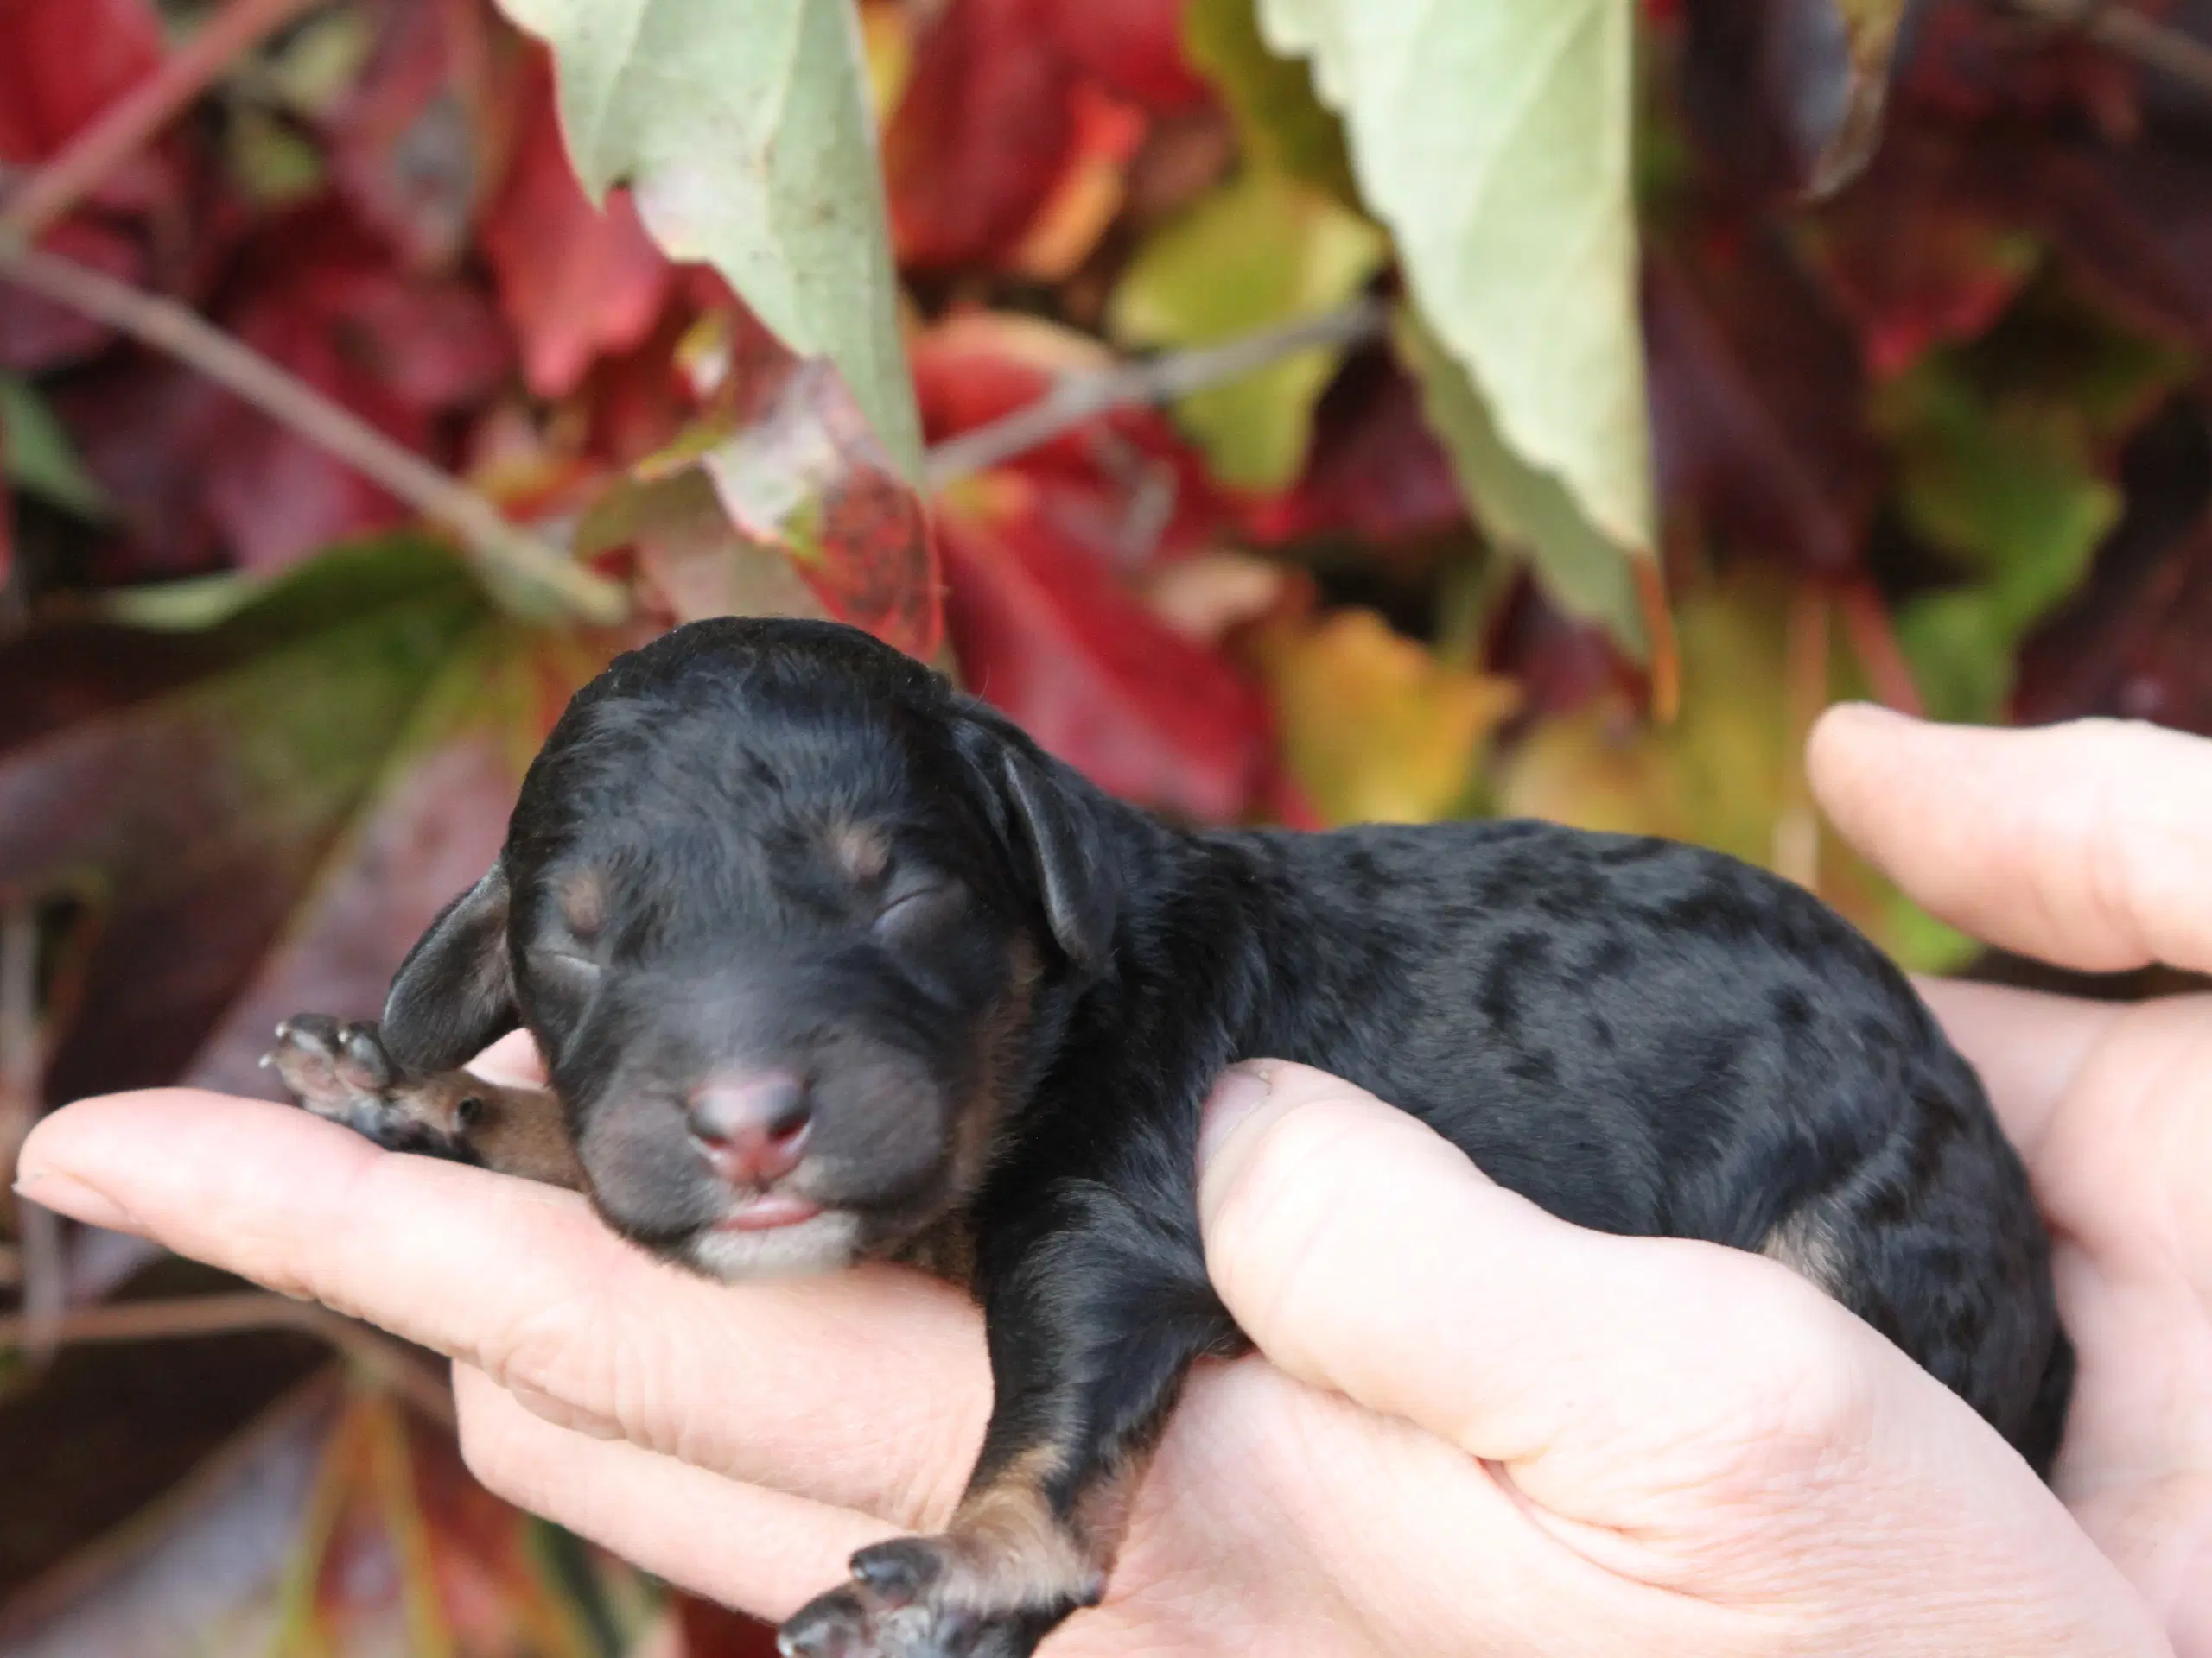
<path id="1" fill-rule="evenodd" d="M 1314 411 L 1305 473 L 1248 513 L 1261 542 L 1356 535 L 1391 544 L 1464 522 L 1467 502 L 1420 413 L 1420 391 L 1387 351 L 1345 365 Z"/>

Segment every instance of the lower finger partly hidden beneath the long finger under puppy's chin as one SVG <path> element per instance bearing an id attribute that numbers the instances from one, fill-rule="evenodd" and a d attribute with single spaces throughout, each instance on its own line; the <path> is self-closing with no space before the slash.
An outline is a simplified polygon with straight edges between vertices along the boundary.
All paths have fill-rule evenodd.
<path id="1" fill-rule="evenodd" d="M 896 1528 L 745 1486 L 626 1439 L 557 1428 L 482 1371 L 453 1366 L 460 1455 L 493 1492 L 710 1601 L 783 1620 Z"/>

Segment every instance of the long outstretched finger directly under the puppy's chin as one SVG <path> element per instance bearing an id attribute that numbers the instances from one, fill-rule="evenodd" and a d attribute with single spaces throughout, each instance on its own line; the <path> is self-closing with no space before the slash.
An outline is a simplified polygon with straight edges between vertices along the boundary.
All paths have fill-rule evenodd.
<path id="1" fill-rule="evenodd" d="M 69 1105 L 20 1167 L 33 1200 L 77 1214 L 75 1183 L 179 1253 L 752 1483 L 938 1512 L 982 1439 L 980 1318 L 916 1273 L 712 1284 L 622 1242 L 571 1192 L 190 1090 Z"/>

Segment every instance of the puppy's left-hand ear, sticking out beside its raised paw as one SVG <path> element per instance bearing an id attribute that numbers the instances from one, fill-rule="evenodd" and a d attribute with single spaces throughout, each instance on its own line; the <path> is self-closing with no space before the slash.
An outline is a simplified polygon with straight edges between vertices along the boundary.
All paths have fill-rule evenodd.
<path id="1" fill-rule="evenodd" d="M 392 975 L 385 1048 L 414 1077 L 456 1070 L 520 1024 L 507 955 L 507 871 L 438 911 Z"/>

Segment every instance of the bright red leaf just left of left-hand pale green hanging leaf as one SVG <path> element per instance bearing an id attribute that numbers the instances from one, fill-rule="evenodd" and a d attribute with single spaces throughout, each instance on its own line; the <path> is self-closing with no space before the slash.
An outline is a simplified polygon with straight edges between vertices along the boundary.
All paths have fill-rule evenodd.
<path id="1" fill-rule="evenodd" d="M 628 192 L 611 195 L 599 212 L 577 186 L 538 46 L 522 77 L 513 159 L 478 237 L 522 345 L 522 376 L 542 398 L 566 396 L 602 354 L 644 340 L 675 285 Z"/>

